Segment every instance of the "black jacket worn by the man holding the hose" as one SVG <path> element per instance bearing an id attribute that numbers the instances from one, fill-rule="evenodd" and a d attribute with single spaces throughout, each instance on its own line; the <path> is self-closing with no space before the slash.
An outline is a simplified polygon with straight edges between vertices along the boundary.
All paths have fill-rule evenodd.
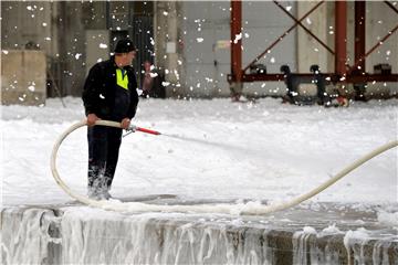
<path id="1" fill-rule="evenodd" d="M 122 121 L 133 118 L 138 105 L 137 80 L 132 66 L 125 66 L 128 76 L 128 89 L 116 84 L 115 57 L 96 63 L 88 73 L 83 89 L 83 103 L 86 115 Z"/>

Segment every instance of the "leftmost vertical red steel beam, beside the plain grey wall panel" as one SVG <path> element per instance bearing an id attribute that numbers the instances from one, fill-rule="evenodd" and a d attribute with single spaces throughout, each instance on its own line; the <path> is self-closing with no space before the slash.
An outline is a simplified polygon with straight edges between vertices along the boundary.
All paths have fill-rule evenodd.
<path id="1" fill-rule="evenodd" d="M 242 2 L 231 1 L 231 75 L 232 80 L 242 81 Z"/>

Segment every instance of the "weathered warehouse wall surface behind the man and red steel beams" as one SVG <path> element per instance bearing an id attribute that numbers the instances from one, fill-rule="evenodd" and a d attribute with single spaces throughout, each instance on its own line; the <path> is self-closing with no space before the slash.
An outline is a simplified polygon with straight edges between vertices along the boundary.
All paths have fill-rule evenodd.
<path id="1" fill-rule="evenodd" d="M 306 1 L 283 1 L 282 4 L 296 18 L 314 6 Z M 2 1 L 2 51 L 33 49 L 44 52 L 48 96 L 80 96 L 87 68 L 100 57 L 108 55 L 113 45 L 113 40 L 108 40 L 106 49 L 98 50 L 98 41 L 87 38 L 102 32 L 104 40 L 101 42 L 105 43 L 105 39 L 113 39 L 121 26 L 130 35 L 139 33 L 132 21 L 137 15 L 136 9 L 145 10 L 145 2 L 117 2 L 116 6 L 124 7 L 119 13 L 115 13 L 114 6 L 103 1 Z M 347 52 L 348 63 L 353 63 L 354 2 L 347 2 Z M 155 44 L 155 65 L 166 74 L 167 95 L 229 96 L 230 2 L 157 1 L 151 7 L 155 41 L 150 40 L 150 43 Z M 243 1 L 242 9 L 244 67 L 294 21 L 273 2 Z M 366 15 L 368 51 L 398 24 L 398 17 L 384 2 L 367 2 Z M 303 23 L 334 50 L 334 2 L 325 2 Z M 392 72 L 398 72 L 397 43 L 396 32 L 367 59 L 366 70 L 373 73 L 375 64 L 388 63 Z M 268 73 L 280 73 L 282 64 L 289 64 L 294 72 L 308 72 L 312 64 L 318 64 L 323 72 L 334 70 L 333 55 L 301 29 L 291 32 L 259 63 L 266 65 Z M 136 67 L 139 72 L 139 65 Z M 54 91 L 54 84 L 59 86 L 57 92 Z M 398 89 L 396 83 L 388 86 Z M 253 95 L 283 95 L 285 86 L 283 82 L 247 83 L 244 92 Z"/>

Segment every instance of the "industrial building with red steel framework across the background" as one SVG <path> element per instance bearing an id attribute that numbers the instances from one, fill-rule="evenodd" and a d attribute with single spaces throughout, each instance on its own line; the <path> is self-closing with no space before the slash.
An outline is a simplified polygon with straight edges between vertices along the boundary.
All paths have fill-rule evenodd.
<path id="1" fill-rule="evenodd" d="M 397 96 L 397 10 L 396 1 L 2 1 L 2 103 L 80 96 L 122 36 L 138 47 L 138 78 L 149 61 L 167 97 L 284 96 L 283 65 L 304 83 L 317 65 L 349 98 Z"/>

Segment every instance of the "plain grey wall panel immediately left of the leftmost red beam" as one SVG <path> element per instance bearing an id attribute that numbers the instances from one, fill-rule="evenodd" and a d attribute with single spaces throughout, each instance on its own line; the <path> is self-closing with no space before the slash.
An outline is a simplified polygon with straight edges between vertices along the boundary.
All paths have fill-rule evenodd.
<path id="1" fill-rule="evenodd" d="M 230 39 L 229 7 L 229 2 L 184 2 L 181 39 L 188 96 L 229 94 L 230 50 L 214 46 L 217 41 Z"/>

